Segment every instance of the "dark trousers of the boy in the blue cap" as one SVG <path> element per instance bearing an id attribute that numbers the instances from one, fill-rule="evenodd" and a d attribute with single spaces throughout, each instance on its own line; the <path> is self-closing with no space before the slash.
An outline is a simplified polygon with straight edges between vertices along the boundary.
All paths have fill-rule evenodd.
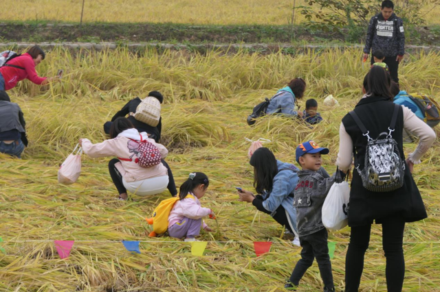
<path id="1" fill-rule="evenodd" d="M 327 243 L 328 236 L 329 234 L 325 228 L 306 236 L 300 236 L 300 243 L 303 250 L 301 251 L 301 259 L 296 263 L 295 269 L 292 271 L 292 276 L 290 276 L 289 279 L 292 284 L 296 286 L 299 284 L 307 269 L 314 262 L 314 258 L 316 258 L 325 287 L 329 289 L 334 287 L 329 245 Z"/>

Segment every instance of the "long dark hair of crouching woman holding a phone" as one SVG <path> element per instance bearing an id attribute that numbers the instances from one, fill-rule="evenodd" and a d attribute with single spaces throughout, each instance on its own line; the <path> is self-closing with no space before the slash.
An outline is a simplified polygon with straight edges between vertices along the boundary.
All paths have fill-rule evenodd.
<path id="1" fill-rule="evenodd" d="M 250 165 L 254 167 L 254 188 L 257 193 L 270 193 L 274 185 L 274 178 L 278 173 L 276 158 L 272 151 L 265 147 L 256 149 L 250 158 Z"/>

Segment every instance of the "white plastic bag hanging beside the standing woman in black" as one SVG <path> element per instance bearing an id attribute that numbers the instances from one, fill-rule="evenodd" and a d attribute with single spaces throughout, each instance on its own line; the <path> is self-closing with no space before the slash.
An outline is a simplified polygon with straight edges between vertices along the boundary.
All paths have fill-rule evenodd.
<path id="1" fill-rule="evenodd" d="M 333 230 L 339 230 L 349 223 L 348 206 L 350 186 L 348 182 L 335 182 L 322 205 L 322 224 Z"/>

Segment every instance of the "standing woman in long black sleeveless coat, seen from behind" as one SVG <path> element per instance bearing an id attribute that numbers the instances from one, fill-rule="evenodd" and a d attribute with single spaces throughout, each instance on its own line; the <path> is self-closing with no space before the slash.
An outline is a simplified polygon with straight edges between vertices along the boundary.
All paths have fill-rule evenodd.
<path id="1" fill-rule="evenodd" d="M 379 66 L 373 66 L 364 80 L 365 95 L 355 106 L 354 112 L 369 131 L 377 138 L 382 132 L 388 134 L 395 110 L 390 93 L 390 76 Z M 345 262 L 346 292 L 358 291 L 364 254 L 369 246 L 371 224 L 382 224 L 382 241 L 386 256 L 386 284 L 388 291 L 401 291 L 405 275 L 403 251 L 406 222 L 419 221 L 427 217 L 421 195 L 411 172 L 414 164 L 428 151 L 435 139 L 432 129 L 423 123 L 408 108 L 399 107 L 392 137 L 402 160 L 405 160 L 402 133 L 408 130 L 419 136 L 420 142 L 405 162 L 404 185 L 395 191 L 377 193 L 362 186 L 358 170 L 353 170 L 349 203 L 349 226 L 351 227 L 349 250 Z M 337 165 L 342 171 L 351 166 L 354 151 L 355 167 L 364 169 L 367 137 L 351 116 L 346 114 L 340 125 L 340 149 Z"/>

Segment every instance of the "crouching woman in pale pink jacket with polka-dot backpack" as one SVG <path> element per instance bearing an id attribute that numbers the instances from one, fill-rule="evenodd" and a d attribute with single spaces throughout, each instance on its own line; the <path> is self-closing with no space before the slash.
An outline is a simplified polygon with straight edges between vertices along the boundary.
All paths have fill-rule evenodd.
<path id="1" fill-rule="evenodd" d="M 157 147 L 162 158 L 166 157 L 168 150 L 164 145 L 148 138 L 146 132 L 137 132 L 126 118 L 119 118 L 113 122 L 109 140 L 92 144 L 89 139 L 82 138 L 80 145 L 84 153 L 92 158 L 118 157 L 110 160 L 109 172 L 118 189 L 119 199 L 126 200 L 127 190 L 135 195 L 155 195 L 165 191 L 168 185 L 168 171 L 162 162 L 151 167 L 141 167 L 137 163 L 141 153 L 137 151 L 140 141 L 145 140 Z"/>

